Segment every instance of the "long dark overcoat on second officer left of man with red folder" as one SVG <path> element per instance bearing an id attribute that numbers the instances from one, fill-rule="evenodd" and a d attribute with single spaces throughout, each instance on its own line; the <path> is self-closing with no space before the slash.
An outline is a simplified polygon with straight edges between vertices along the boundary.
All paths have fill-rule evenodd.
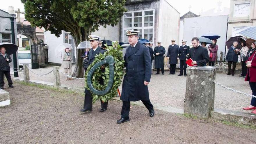
<path id="1" fill-rule="evenodd" d="M 176 65 L 178 63 L 178 54 L 179 54 L 179 46 L 178 45 L 169 45 L 167 57 L 169 57 L 170 65 Z"/>

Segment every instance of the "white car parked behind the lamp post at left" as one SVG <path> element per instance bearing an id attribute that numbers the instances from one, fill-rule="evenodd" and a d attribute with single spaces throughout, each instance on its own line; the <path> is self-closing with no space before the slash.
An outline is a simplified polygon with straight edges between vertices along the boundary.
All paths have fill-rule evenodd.
<path id="1" fill-rule="evenodd" d="M 31 52 L 30 51 L 18 51 L 19 58 L 19 68 L 23 67 L 23 64 L 28 64 L 29 68 L 32 68 L 31 65 Z"/>

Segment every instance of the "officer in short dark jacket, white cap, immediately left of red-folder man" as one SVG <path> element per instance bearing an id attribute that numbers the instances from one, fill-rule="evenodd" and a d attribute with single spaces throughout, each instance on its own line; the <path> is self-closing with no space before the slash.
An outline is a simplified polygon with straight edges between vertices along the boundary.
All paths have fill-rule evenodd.
<path id="1" fill-rule="evenodd" d="M 183 75 L 183 70 L 184 70 L 184 76 L 187 76 L 186 73 L 186 68 L 187 64 L 186 61 L 188 60 L 187 57 L 189 56 L 189 46 L 186 45 L 186 40 L 182 40 L 182 46 L 179 47 L 179 68 L 180 68 L 180 73 L 178 76 Z"/>

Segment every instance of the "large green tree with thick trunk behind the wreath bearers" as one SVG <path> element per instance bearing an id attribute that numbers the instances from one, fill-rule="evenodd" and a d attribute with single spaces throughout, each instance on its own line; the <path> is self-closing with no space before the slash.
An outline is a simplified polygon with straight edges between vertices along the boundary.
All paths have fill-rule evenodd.
<path id="1" fill-rule="evenodd" d="M 75 45 L 86 41 L 99 26 L 114 26 L 126 11 L 125 0 L 21 0 L 25 18 L 33 25 L 44 27 L 57 37 L 70 32 Z M 84 50 L 77 49 L 73 77 L 83 77 Z"/>

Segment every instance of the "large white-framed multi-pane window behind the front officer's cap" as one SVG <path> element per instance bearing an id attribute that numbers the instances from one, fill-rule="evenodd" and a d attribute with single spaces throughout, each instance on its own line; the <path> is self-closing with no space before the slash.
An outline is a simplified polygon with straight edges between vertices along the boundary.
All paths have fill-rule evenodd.
<path id="1" fill-rule="evenodd" d="M 125 31 L 131 29 L 140 31 L 139 38 L 150 42 L 154 36 L 154 10 L 141 10 L 124 13 L 123 17 L 123 42 L 128 42 Z"/>

